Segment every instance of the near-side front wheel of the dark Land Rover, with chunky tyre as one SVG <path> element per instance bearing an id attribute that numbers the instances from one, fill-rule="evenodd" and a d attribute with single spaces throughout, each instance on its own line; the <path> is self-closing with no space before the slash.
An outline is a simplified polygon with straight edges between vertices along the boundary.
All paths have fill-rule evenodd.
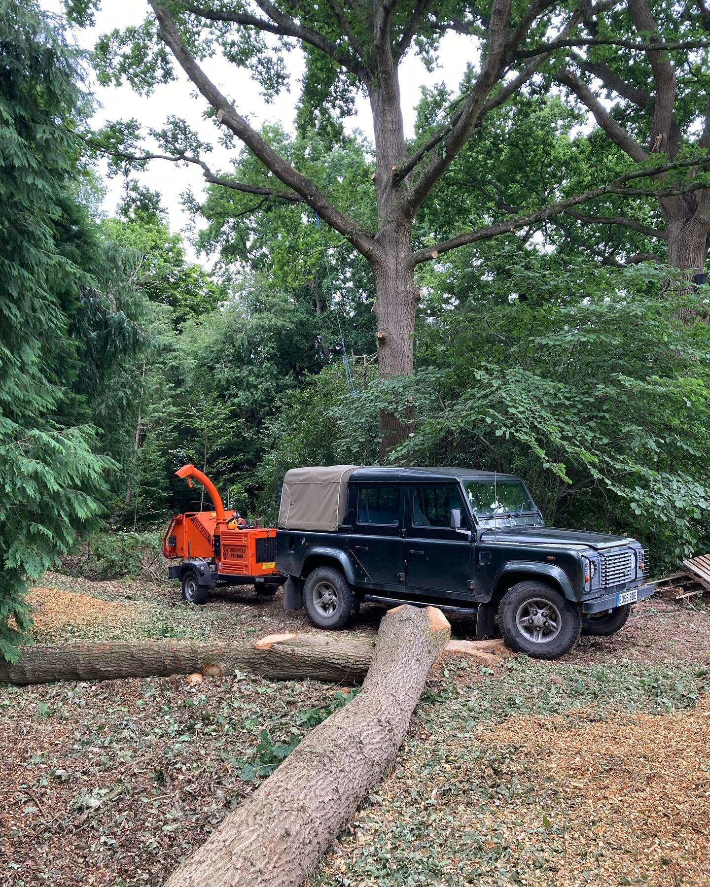
<path id="1" fill-rule="evenodd" d="M 543 604 L 544 609 L 539 604 Z M 527 618 L 534 619 L 542 612 L 553 616 L 552 621 L 548 620 L 549 624 L 554 622 L 553 628 L 525 624 Z M 579 609 L 552 585 L 525 579 L 503 595 L 498 625 L 511 650 L 526 653 L 533 659 L 557 659 L 580 640 L 581 616 Z M 537 634 L 539 629 L 540 640 L 532 640 L 530 635 Z"/>

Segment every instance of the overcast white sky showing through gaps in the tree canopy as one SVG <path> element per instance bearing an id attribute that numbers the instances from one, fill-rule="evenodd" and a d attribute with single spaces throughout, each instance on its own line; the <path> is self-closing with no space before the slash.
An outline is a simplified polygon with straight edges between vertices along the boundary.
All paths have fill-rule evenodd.
<path id="1" fill-rule="evenodd" d="M 51 12 L 63 12 L 61 0 L 42 0 L 42 5 Z M 120 3 L 116 0 L 108 2 L 104 0 L 96 15 L 96 27 L 72 31 L 69 39 L 73 39 L 85 49 L 91 49 L 99 35 L 112 31 L 115 27 L 138 25 L 145 19 L 146 12 L 145 0 L 121 0 Z M 419 100 L 422 85 L 431 86 L 435 82 L 445 82 L 450 89 L 454 89 L 461 82 L 474 46 L 475 43 L 470 38 L 446 35 L 441 46 L 441 67 L 433 75 L 425 70 L 414 53 L 410 53 L 403 61 L 400 67 L 400 83 L 407 136 L 412 135 L 414 131 L 414 106 Z M 264 102 L 258 85 L 251 82 L 248 72 L 231 65 L 221 55 L 205 61 L 204 67 L 227 98 L 235 100 L 237 109 L 241 114 L 248 116 L 252 125 L 259 127 L 265 122 L 280 122 L 282 126 L 293 130 L 294 109 L 300 92 L 299 81 L 304 72 L 302 53 L 298 50 L 289 52 L 287 64 L 291 80 L 290 92 L 282 92 L 271 105 Z M 95 82 L 93 85 L 98 99 L 98 109 L 93 119 L 96 126 L 108 120 L 135 117 L 146 128 L 152 126 L 159 129 L 166 117 L 175 114 L 185 118 L 205 141 L 215 145 L 211 155 L 206 158 L 209 166 L 214 170 L 229 169 L 230 152 L 217 143 L 217 130 L 214 124 L 202 117 L 207 107 L 206 102 L 201 97 L 193 97 L 191 94 L 193 86 L 182 71 L 179 72 L 177 82 L 158 86 L 149 97 L 138 96 L 127 85 L 118 88 L 101 87 Z M 371 117 L 365 98 L 359 97 L 357 114 L 347 125 L 350 130 L 361 130 L 367 137 L 372 138 Z M 189 187 L 197 196 L 201 195 L 204 190 L 201 170 L 194 166 L 185 168 L 166 161 L 153 161 L 148 171 L 139 178 L 142 178 L 143 184 L 161 192 L 162 203 L 168 211 L 172 230 L 185 231 L 190 219 L 181 206 L 180 194 Z M 106 179 L 106 186 L 108 191 L 103 209 L 111 215 L 121 199 L 123 181 L 119 178 Z M 199 228 L 201 220 L 196 219 L 195 224 Z"/>

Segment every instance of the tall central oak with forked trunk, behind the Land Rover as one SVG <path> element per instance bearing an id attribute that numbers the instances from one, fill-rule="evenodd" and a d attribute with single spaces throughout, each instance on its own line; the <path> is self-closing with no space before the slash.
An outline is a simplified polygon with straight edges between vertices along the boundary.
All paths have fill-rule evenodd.
<path id="1" fill-rule="evenodd" d="M 710 44 L 702 35 L 698 37 L 702 22 L 698 24 L 697 15 L 691 16 L 691 27 L 686 29 L 675 20 L 672 27 L 668 24 L 671 40 L 664 43 L 654 22 L 643 10 L 639 12 L 639 4 L 644 2 L 633 0 L 635 12 L 628 12 L 625 4 L 614 0 L 488 0 L 475 5 L 457 0 L 437 4 L 431 0 L 327 0 L 325 4 L 295 0 L 206 0 L 201 4 L 149 0 L 149 14 L 140 27 L 115 31 L 99 41 L 99 73 L 105 80 L 120 82 L 126 78 L 138 90 L 151 90 L 156 82 L 169 81 L 175 75 L 176 65 L 182 68 L 206 100 L 225 144 L 233 144 L 233 139 L 237 139 L 261 161 L 264 182 L 241 182 L 211 169 L 204 159 L 209 145 L 202 143 L 182 121 L 172 120 L 165 129 L 153 130 L 162 147 L 160 153 L 141 150 L 135 122 L 129 138 L 125 129 L 114 128 L 104 144 L 114 156 L 126 161 L 145 164 L 162 158 L 195 163 L 209 183 L 312 208 L 370 263 L 375 280 L 373 310 L 377 319 L 379 371 L 384 377 L 406 376 L 414 369 L 414 319 L 419 298 L 414 273 L 418 265 L 465 244 L 501 233 L 530 230 L 546 219 L 605 195 L 651 195 L 667 201 L 664 206 L 671 213 L 671 201 L 691 202 L 689 195 L 706 187 L 704 174 L 698 172 L 698 176 L 691 178 L 687 172 L 702 169 L 704 137 L 698 141 L 699 154 L 680 151 L 667 90 L 659 89 L 659 84 L 671 76 L 663 73 L 668 51 L 687 56 Z M 665 23 L 669 22 L 673 19 L 674 4 L 661 5 Z M 91 17 L 91 3 L 87 0 L 74 0 L 70 8 L 77 20 Z M 629 15 L 633 28 L 627 21 Z M 633 30 L 632 36 L 628 35 L 629 30 Z M 418 51 L 425 62 L 431 63 L 442 36 L 449 31 L 469 35 L 471 58 L 477 61 L 472 63 L 461 94 L 446 108 L 443 119 L 433 121 L 430 132 L 414 145 L 408 144 L 399 85 L 401 61 L 407 52 Z M 323 105 L 340 106 L 347 113 L 348 103 L 358 90 L 367 96 L 375 134 L 373 212 L 351 214 L 333 200 L 314 177 L 297 169 L 248 122 L 248 101 L 225 96 L 201 65 L 202 59 L 221 50 L 234 65 L 247 67 L 264 90 L 278 90 L 286 78 L 283 56 L 272 50 L 265 35 L 275 35 L 281 50 L 294 42 L 303 49 L 307 72 L 318 70 L 321 80 L 326 86 L 329 84 L 324 90 Z M 594 66 L 600 47 L 627 52 L 633 59 L 643 57 L 651 66 L 656 98 L 651 96 L 647 101 L 641 93 L 635 93 L 639 106 L 646 113 L 652 106 L 651 113 L 655 115 L 649 150 L 634 149 L 630 154 L 633 164 L 611 181 L 596 182 L 583 192 L 455 233 L 438 243 L 428 242 L 427 238 L 413 242 L 415 217 L 425 201 L 436 199 L 439 183 L 463 147 L 475 137 L 486 115 L 524 89 L 533 77 L 549 79 L 554 75 L 565 89 L 574 85 L 575 95 L 591 95 L 593 87 L 581 76 L 575 75 L 573 80 L 570 71 L 560 68 L 559 57 L 560 53 L 577 50 L 579 64 Z M 584 74 L 598 77 L 600 71 L 601 68 L 596 73 L 590 69 Z M 329 81 L 325 72 L 330 72 Z M 607 75 L 608 80 L 610 76 Z M 618 139 L 617 144 L 626 145 L 630 137 L 623 137 L 619 123 L 601 101 L 596 100 L 593 110 L 597 120 L 604 121 L 605 130 Z M 659 141 L 660 135 L 665 142 Z M 666 148 L 667 153 L 663 153 Z M 494 163 L 492 156 L 491 164 Z M 702 212 L 700 216 L 703 217 Z M 686 255 L 689 254 L 681 251 L 677 261 L 686 261 Z M 409 433 L 406 416 L 402 420 L 383 411 L 380 424 L 383 451 Z"/>

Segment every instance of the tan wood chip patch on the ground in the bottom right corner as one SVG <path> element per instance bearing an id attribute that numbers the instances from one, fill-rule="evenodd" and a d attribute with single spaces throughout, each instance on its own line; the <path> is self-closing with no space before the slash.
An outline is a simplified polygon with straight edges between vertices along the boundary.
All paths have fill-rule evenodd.
<path id="1" fill-rule="evenodd" d="M 495 811 L 514 855 L 526 842 L 513 836 L 542 823 L 558 863 L 537 883 L 710 884 L 710 700 L 598 718 L 509 718 L 479 736 L 536 783 L 524 805 Z"/>

